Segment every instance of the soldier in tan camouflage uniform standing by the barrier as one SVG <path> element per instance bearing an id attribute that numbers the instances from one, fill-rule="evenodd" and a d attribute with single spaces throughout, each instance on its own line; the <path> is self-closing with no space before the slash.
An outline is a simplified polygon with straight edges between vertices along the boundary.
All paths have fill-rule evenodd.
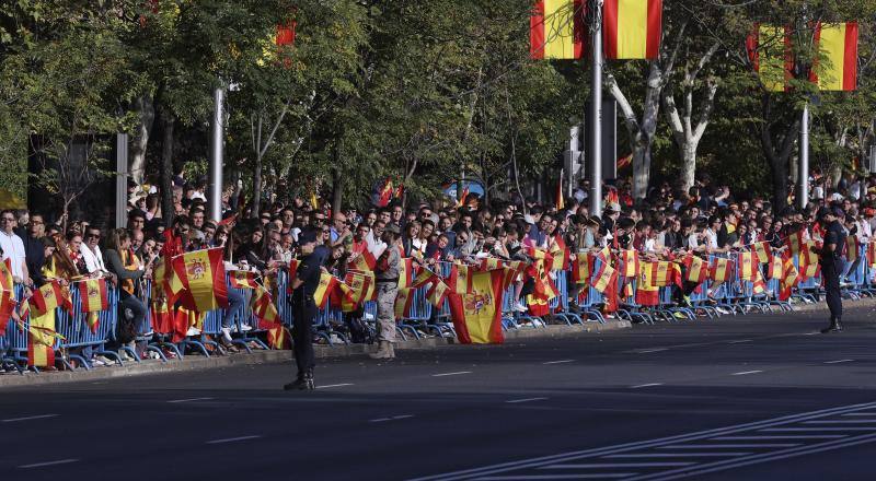
<path id="1" fill-rule="evenodd" d="M 399 292 L 399 272 L 402 262 L 400 250 L 400 230 L 395 224 L 389 224 L 383 232 L 382 241 L 387 243 L 387 250 L 377 262 L 377 320 L 379 349 L 371 354 L 372 359 L 392 360 L 395 350 L 395 295 Z"/>

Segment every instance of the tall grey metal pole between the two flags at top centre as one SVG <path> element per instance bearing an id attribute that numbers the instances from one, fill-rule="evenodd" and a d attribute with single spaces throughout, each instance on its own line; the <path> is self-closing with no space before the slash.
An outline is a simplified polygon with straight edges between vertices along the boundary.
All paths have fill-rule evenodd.
<path id="1" fill-rule="evenodd" d="M 590 215 L 602 215 L 602 0 L 593 2 L 593 70 L 590 81 Z"/>

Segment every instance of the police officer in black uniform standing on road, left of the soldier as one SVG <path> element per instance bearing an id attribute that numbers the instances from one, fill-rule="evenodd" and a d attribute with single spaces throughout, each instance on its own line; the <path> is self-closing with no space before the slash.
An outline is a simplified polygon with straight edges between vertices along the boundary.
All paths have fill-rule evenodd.
<path id="1" fill-rule="evenodd" d="M 292 327 L 292 350 L 295 362 L 298 366 L 298 377 L 295 382 L 285 385 L 286 390 L 313 390 L 313 320 L 316 317 L 316 302 L 313 293 L 320 285 L 319 256 L 313 249 L 316 247 L 316 233 L 303 232 L 298 237 L 301 247 L 301 261 L 295 279 L 291 281 L 292 295 L 289 302 L 292 305 L 295 325 Z"/>

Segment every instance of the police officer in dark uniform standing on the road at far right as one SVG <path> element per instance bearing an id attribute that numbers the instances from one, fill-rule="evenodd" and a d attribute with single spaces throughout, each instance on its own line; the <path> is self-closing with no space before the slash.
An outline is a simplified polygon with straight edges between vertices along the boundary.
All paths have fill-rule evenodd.
<path id="1" fill-rule="evenodd" d="M 825 209 L 819 212 L 821 225 L 825 227 L 825 243 L 820 250 L 815 250 L 819 255 L 821 263 L 821 279 L 825 286 L 825 301 L 830 309 L 830 326 L 821 329 L 822 333 L 842 331 L 842 296 L 840 294 L 840 273 L 842 272 L 842 250 L 845 247 L 845 230 L 838 221 L 844 219 L 845 213 L 839 207 L 833 210 Z"/>

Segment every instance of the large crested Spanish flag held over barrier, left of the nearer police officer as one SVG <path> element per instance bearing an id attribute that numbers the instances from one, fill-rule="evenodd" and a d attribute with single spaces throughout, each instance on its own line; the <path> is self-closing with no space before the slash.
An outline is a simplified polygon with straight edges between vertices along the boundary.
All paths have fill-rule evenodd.
<path id="1" fill-rule="evenodd" d="M 183 307 L 199 313 L 228 307 L 221 248 L 185 253 L 174 257 L 172 262 L 173 272 L 183 286 L 180 292 Z"/>

